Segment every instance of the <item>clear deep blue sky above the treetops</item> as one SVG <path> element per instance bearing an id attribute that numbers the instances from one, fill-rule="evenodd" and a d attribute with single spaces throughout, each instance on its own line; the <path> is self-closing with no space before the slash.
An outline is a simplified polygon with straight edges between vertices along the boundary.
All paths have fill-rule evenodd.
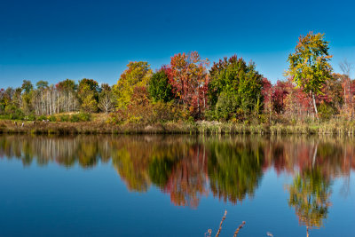
<path id="1" fill-rule="evenodd" d="M 116 83 L 130 60 L 155 69 L 177 52 L 211 62 L 236 53 L 272 82 L 308 31 L 326 34 L 332 65 L 355 64 L 352 1 L 2 1 L 0 88 L 86 77 Z M 355 68 L 354 68 L 355 69 Z M 352 74 L 354 76 L 354 74 Z"/>

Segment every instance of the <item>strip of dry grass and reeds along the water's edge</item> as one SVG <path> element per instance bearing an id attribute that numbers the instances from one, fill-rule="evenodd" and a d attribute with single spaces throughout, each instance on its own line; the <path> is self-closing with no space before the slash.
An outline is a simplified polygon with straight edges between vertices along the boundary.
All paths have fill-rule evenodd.
<path id="1" fill-rule="evenodd" d="M 155 124 L 106 122 L 0 121 L 0 133 L 19 134 L 339 134 L 355 135 L 353 122 L 299 124 L 241 124 L 232 122 L 164 122 Z"/>

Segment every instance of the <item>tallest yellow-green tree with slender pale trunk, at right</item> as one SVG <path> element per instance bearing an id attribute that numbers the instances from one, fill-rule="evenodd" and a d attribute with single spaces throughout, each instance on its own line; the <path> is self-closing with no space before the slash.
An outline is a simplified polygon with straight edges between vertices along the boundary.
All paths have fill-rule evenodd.
<path id="1" fill-rule="evenodd" d="M 296 85 L 312 98 L 314 112 L 318 116 L 315 96 L 322 93 L 324 84 L 331 78 L 332 67 L 328 54 L 328 42 L 324 34 L 300 36 L 294 53 L 288 55 L 289 67 L 285 75 L 293 77 Z"/>

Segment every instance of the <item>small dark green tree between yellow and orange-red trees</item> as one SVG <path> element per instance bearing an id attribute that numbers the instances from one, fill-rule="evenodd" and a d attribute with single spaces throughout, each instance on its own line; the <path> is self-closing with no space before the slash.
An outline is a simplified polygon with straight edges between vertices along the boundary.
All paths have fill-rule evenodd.
<path id="1" fill-rule="evenodd" d="M 154 73 L 148 83 L 148 92 L 154 102 L 169 102 L 173 99 L 168 75 L 163 69 Z"/>

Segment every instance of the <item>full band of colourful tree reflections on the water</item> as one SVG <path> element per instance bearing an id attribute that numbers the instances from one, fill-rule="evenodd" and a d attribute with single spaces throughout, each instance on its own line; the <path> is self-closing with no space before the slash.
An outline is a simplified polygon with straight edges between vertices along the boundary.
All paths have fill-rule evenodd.
<path id="1" fill-rule="evenodd" d="M 129 190 L 157 186 L 172 203 L 193 208 L 209 193 L 234 204 L 252 198 L 265 170 L 273 169 L 293 177 L 286 184 L 288 205 L 307 232 L 323 225 L 332 180 L 347 180 L 354 152 L 351 138 L 330 137 L 0 137 L 3 159 L 20 159 L 24 166 L 57 162 L 68 169 L 112 162 Z"/>

